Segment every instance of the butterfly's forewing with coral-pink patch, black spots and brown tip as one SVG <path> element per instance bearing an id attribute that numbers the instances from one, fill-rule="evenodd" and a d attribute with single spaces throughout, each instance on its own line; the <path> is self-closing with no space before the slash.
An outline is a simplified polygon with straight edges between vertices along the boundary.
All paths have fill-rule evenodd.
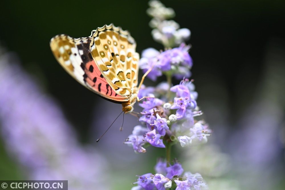
<path id="1" fill-rule="evenodd" d="M 60 65 L 89 90 L 115 103 L 128 101 L 115 93 L 101 74 L 89 51 L 90 42 L 91 37 L 74 39 L 62 34 L 51 39 L 50 47 Z"/>

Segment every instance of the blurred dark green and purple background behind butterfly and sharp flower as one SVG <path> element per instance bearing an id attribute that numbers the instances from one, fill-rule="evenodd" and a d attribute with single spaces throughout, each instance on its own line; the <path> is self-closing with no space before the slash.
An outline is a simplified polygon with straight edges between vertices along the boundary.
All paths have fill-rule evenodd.
<path id="1" fill-rule="evenodd" d="M 174 20 L 181 28 L 192 32 L 187 42 L 192 44 L 190 55 L 194 60 L 191 78 L 195 79 L 203 118 L 213 129 L 208 144 L 200 151 L 177 147 L 174 154 L 187 170 L 206 176 L 210 189 L 284 189 L 285 3 L 162 3 L 174 9 Z M 156 157 L 163 156 L 163 150 L 148 148 L 145 154 L 135 154 L 123 144 L 133 126 L 139 124 L 131 115 L 125 117 L 122 132 L 119 119 L 95 143 L 120 113 L 121 105 L 100 99 L 72 79 L 49 47 L 50 38 L 56 34 L 86 37 L 96 27 L 114 23 L 131 32 L 137 52 L 148 47 L 162 49 L 152 39 L 147 8 L 147 1 L 127 0 L 1 3 L 0 43 L 4 55 L 0 62 L 19 66 L 10 70 L 0 67 L 0 179 L 73 179 L 77 180 L 74 189 L 90 189 L 82 184 L 95 185 L 96 189 L 130 189 L 135 175 L 153 172 Z M 158 82 L 147 79 L 145 84 L 154 86 Z M 5 88 L 7 83 L 14 87 Z M 38 111 L 25 105 L 27 101 L 37 102 Z M 22 107 L 17 107 L 18 103 Z M 45 127 L 35 132 L 32 124 L 11 122 L 22 113 L 32 124 L 34 117 L 41 118 L 36 124 Z M 46 141 L 36 137 L 52 128 L 54 135 Z M 64 140 L 58 140 L 61 138 Z M 56 159 L 39 164 L 42 158 L 38 158 L 38 152 L 46 150 L 54 139 L 58 144 L 45 155 Z M 34 146 L 38 152 L 31 154 L 28 150 Z"/>

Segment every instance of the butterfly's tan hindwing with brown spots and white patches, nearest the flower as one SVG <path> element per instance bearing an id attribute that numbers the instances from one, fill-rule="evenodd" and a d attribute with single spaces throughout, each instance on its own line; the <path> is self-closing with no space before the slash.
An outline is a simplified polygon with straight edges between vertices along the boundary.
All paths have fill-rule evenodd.
<path id="1" fill-rule="evenodd" d="M 91 37 L 90 52 L 103 76 L 117 94 L 130 95 L 139 69 L 135 40 L 113 24 L 97 28 Z"/>

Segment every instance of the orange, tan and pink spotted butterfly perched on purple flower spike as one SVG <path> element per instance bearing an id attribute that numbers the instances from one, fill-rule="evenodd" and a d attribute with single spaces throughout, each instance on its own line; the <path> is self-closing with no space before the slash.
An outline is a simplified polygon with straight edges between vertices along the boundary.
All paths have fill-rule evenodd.
<path id="1" fill-rule="evenodd" d="M 50 48 L 72 77 L 108 101 L 122 104 L 124 113 L 131 113 L 141 100 L 138 91 L 148 72 L 137 87 L 139 54 L 128 31 L 110 24 L 85 38 L 61 34 L 50 40 Z"/>

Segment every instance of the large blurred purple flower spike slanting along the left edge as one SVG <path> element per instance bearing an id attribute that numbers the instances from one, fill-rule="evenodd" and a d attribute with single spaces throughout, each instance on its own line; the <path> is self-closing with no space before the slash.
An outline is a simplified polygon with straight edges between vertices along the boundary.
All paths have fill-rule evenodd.
<path id="1" fill-rule="evenodd" d="M 0 56 L 1 132 L 7 150 L 25 166 L 27 179 L 66 179 L 69 189 L 98 185 L 107 189 L 100 172 L 106 167 L 104 159 L 80 148 L 60 108 L 24 73 L 15 57 Z"/>

